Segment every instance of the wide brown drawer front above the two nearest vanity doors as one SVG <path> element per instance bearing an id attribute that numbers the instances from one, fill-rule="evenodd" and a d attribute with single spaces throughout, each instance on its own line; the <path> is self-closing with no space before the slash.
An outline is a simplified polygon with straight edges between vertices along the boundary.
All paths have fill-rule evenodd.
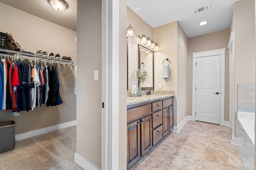
<path id="1" fill-rule="evenodd" d="M 142 117 L 143 115 L 151 113 L 151 104 L 145 106 L 136 107 L 127 110 L 127 121 L 136 119 L 137 117 Z"/>

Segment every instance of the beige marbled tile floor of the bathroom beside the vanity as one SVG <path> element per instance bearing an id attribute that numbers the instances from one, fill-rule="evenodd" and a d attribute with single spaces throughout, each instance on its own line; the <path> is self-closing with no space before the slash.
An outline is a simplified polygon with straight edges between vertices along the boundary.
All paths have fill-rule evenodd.
<path id="1" fill-rule="evenodd" d="M 243 170 L 228 127 L 188 121 L 129 170 Z"/>

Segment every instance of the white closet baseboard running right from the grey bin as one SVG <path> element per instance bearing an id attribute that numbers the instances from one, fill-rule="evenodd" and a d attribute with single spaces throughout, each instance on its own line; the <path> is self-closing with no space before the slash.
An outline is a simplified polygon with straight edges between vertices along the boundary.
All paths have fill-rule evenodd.
<path id="1" fill-rule="evenodd" d="M 41 134 L 44 134 L 44 133 L 49 133 L 49 132 L 52 132 L 52 131 L 64 129 L 66 127 L 70 127 L 70 126 L 74 126 L 74 125 L 76 125 L 76 120 L 66 122 L 66 123 L 61 123 L 61 124 L 50 126 L 50 127 L 45 127 L 45 128 L 42 128 L 42 129 L 36 129 L 34 131 L 30 131 L 30 132 L 15 135 L 15 140 L 19 141 L 19 140 L 22 140 L 22 139 L 26 139 L 26 138 L 33 137 L 33 136 L 36 136 L 36 135 L 41 135 Z"/>

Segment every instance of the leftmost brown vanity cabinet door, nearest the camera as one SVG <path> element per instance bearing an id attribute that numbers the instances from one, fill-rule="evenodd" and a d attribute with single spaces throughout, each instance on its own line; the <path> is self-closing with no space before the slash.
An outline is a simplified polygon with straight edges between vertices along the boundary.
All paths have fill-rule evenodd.
<path id="1" fill-rule="evenodd" d="M 139 120 L 127 124 L 127 169 L 141 158 L 140 124 Z"/>

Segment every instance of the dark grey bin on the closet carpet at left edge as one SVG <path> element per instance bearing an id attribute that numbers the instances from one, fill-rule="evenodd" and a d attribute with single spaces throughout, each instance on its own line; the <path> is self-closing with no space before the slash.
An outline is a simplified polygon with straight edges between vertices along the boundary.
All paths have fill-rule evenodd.
<path id="1" fill-rule="evenodd" d="M 0 153 L 15 147 L 15 121 L 0 122 Z"/>

